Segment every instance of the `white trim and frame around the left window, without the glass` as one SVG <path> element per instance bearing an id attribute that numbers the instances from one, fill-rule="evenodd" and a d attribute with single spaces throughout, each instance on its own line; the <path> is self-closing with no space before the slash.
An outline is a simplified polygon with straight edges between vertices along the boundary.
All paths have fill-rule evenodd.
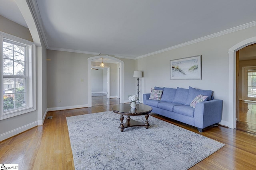
<path id="1" fill-rule="evenodd" d="M 9 39 L 11 41 L 16 41 L 18 43 L 22 43 L 26 46 L 29 46 L 28 49 L 28 88 L 27 88 L 27 107 L 22 107 L 20 109 L 15 109 L 12 111 L 5 112 L 3 111 L 3 41 L 4 39 Z M 36 45 L 33 42 L 28 41 L 26 39 L 22 39 L 20 37 L 16 37 L 14 35 L 10 35 L 0 31 L 0 120 L 7 119 L 10 117 L 14 117 L 17 115 L 21 115 L 24 113 L 29 113 L 31 111 L 36 110 Z"/>

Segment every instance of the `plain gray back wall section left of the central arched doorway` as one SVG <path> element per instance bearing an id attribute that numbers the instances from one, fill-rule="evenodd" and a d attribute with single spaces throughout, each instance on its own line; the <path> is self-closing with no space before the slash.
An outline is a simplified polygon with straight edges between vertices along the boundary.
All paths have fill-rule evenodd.
<path id="1" fill-rule="evenodd" d="M 88 103 L 87 59 L 92 56 L 47 50 L 48 108 Z"/>

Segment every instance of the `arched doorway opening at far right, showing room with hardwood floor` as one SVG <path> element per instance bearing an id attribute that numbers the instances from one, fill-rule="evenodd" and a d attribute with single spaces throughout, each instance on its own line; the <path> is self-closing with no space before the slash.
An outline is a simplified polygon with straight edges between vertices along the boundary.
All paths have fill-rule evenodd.
<path id="1" fill-rule="evenodd" d="M 236 52 L 236 129 L 256 134 L 256 45 Z"/>

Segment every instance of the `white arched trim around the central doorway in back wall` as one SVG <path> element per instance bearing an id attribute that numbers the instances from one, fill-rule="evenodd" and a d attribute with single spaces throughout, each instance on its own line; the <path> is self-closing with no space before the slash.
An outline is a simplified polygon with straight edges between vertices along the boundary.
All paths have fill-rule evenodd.
<path id="1" fill-rule="evenodd" d="M 104 58 L 104 59 L 111 59 L 116 61 L 117 63 L 120 63 L 120 103 L 124 103 L 124 62 L 122 60 L 119 60 L 115 57 L 111 57 L 108 55 L 100 55 L 100 56 L 95 56 L 95 57 L 90 57 L 87 60 L 87 69 L 88 69 L 88 107 L 92 107 L 92 70 L 91 70 L 91 66 L 92 66 L 92 60 L 95 59 L 100 59 L 100 58 Z"/>

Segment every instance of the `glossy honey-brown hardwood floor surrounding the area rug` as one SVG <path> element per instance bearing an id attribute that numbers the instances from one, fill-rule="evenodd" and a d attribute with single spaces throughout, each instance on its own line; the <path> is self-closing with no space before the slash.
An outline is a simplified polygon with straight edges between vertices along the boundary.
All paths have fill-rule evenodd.
<path id="1" fill-rule="evenodd" d="M 109 100 L 108 103 L 112 104 L 104 105 L 104 100 L 100 104 L 97 99 L 95 103 L 98 106 L 50 111 L 47 116 L 52 115 L 53 118 L 46 119 L 43 126 L 34 127 L 0 142 L 0 163 L 19 164 L 20 170 L 74 169 L 66 117 L 109 111 L 119 100 L 116 100 L 116 103 Z M 151 116 L 199 133 L 195 127 L 184 123 L 155 113 L 151 113 Z M 150 121 L 150 117 L 148 119 Z M 199 134 L 226 145 L 193 166 L 191 170 L 256 169 L 256 135 L 222 126 L 208 127 Z"/>

